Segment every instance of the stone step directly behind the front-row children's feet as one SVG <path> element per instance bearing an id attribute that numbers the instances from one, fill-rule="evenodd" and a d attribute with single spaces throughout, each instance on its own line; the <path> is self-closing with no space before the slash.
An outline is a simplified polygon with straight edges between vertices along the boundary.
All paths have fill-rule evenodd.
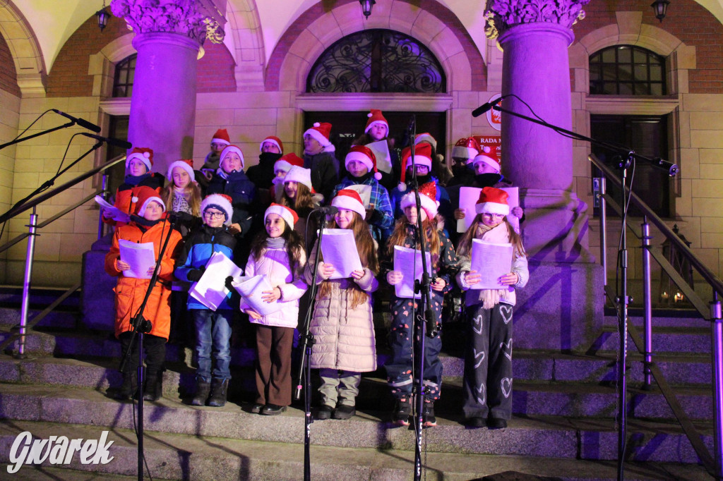
<path id="1" fill-rule="evenodd" d="M 44 358 L 12 360 L 0 357 L 0 381 L 7 386 L 43 384 L 56 388 L 84 388 L 105 392 L 121 384 L 118 363 L 110 360 L 73 360 Z M 356 404 L 360 409 L 386 412 L 393 406 L 388 386 L 380 373 L 362 378 Z M 182 365 L 168 365 L 163 378 L 163 396 L 187 399 L 194 390 L 194 371 Z M 111 389 L 111 394 L 114 392 Z M 712 393 L 708 388 L 687 386 L 676 389 L 677 399 L 693 419 L 709 420 L 712 416 Z M 316 396 L 316 391 L 315 391 Z M 229 386 L 229 401 L 251 402 L 255 397 L 252 368 L 234 369 Z M 437 412 L 458 416 L 462 412 L 462 383 L 459 378 L 445 379 Z M 672 419 L 662 394 L 652 389 L 642 391 L 628 384 L 630 417 Z M 513 413 L 524 416 L 612 417 L 617 412 L 615 386 L 565 382 L 515 380 Z"/>

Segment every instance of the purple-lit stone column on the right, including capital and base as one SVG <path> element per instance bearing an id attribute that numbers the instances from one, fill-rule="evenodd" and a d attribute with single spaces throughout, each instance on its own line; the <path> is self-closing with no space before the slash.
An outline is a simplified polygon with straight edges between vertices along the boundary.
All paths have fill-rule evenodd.
<path id="1" fill-rule="evenodd" d="M 570 27 L 588 2 L 488 0 L 487 33 L 504 51 L 505 109 L 571 129 Z M 586 349 L 602 321 L 602 269 L 587 249 L 586 205 L 573 192 L 573 141 L 502 113 L 502 155 L 505 176 L 521 188 L 531 271 L 518 293 L 515 347 Z"/>

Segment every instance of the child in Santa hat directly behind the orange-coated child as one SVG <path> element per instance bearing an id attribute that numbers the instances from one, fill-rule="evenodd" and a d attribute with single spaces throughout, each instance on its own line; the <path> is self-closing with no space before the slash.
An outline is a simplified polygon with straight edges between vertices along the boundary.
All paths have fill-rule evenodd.
<path id="1" fill-rule="evenodd" d="M 126 157 L 126 177 L 116 191 L 115 207 L 128 215 L 138 214 L 140 204 L 138 199 L 141 194 L 144 198 L 149 195 L 161 194 L 161 186 L 163 186 L 163 175 L 150 172 L 153 167 L 153 150 L 145 147 L 134 147 L 131 153 Z M 115 225 L 116 228 L 124 225 L 125 222 L 119 222 L 111 219 L 108 211 L 103 211 L 103 222 L 109 225 Z"/>

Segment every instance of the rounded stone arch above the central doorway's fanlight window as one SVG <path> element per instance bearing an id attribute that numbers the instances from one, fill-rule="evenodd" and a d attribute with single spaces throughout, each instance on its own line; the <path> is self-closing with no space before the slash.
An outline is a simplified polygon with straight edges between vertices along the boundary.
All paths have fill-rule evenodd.
<path id="1" fill-rule="evenodd" d="M 427 45 L 445 70 L 448 91 L 486 89 L 482 54 L 447 7 L 435 0 L 378 2 L 364 20 L 358 1 L 342 0 L 328 11 L 320 2 L 288 27 L 269 59 L 266 90 L 304 92 L 309 70 L 326 48 L 346 35 L 375 28 L 396 30 Z"/>

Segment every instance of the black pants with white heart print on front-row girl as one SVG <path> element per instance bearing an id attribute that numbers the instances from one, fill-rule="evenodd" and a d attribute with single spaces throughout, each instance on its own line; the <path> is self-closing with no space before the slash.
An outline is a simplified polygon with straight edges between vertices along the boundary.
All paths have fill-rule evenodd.
<path id="1" fill-rule="evenodd" d="M 464 360 L 464 416 L 512 417 L 512 306 L 467 306 L 469 341 Z"/>

